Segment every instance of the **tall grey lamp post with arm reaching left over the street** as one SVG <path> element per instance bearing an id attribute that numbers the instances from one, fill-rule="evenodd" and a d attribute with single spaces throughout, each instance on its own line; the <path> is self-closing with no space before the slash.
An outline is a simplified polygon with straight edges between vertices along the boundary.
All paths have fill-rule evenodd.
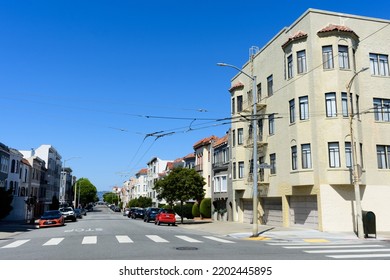
<path id="1" fill-rule="evenodd" d="M 252 110 L 252 129 L 253 129 L 253 228 L 252 228 L 252 237 L 258 236 L 258 213 L 257 213 L 257 204 L 258 204 L 258 190 L 257 190 L 257 83 L 256 76 L 251 76 L 244 71 L 242 71 L 237 66 L 226 64 L 226 63 L 217 63 L 218 66 L 231 67 L 236 69 L 238 72 L 247 76 L 252 80 L 252 98 L 253 98 L 253 110 Z"/>

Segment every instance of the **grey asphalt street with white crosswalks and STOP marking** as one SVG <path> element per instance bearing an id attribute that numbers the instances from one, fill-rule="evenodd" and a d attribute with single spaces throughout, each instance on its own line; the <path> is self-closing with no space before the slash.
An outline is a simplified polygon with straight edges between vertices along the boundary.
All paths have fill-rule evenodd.
<path id="1" fill-rule="evenodd" d="M 190 227 L 129 219 L 106 206 L 63 227 L 0 239 L 2 260 L 329 260 L 390 259 L 384 241 L 324 243 L 248 240 Z"/>

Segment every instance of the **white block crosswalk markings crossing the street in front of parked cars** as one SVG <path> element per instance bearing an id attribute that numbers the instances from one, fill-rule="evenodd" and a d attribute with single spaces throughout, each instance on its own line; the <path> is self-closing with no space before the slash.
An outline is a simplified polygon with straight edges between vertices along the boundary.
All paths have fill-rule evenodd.
<path id="1" fill-rule="evenodd" d="M 186 235 L 174 235 L 174 239 L 170 238 L 168 240 L 167 238 L 163 238 L 158 235 L 145 235 L 145 240 L 149 240 L 155 243 L 175 243 L 180 241 L 188 242 L 188 243 L 204 243 L 209 240 L 214 241 L 214 242 L 219 242 L 219 243 L 235 243 L 234 241 L 223 239 L 220 237 L 216 236 L 200 236 L 197 238 L 186 236 Z M 46 240 L 44 243 L 42 243 L 42 246 L 58 246 L 61 243 L 63 243 L 66 240 L 64 237 L 55 237 L 55 238 L 50 238 L 49 240 Z M 130 236 L 128 235 L 115 235 L 115 238 L 113 240 L 119 244 L 132 244 L 136 243 Z M 138 240 L 139 241 L 139 240 Z M 0 249 L 10 249 L 10 248 L 17 248 L 20 247 L 28 242 L 33 242 L 32 239 L 21 239 L 21 240 L 16 240 L 13 241 L 7 245 L 4 245 L 0 247 Z M 81 245 L 94 245 L 99 242 L 99 236 L 97 235 L 88 235 L 88 236 L 83 236 L 81 238 Z"/>

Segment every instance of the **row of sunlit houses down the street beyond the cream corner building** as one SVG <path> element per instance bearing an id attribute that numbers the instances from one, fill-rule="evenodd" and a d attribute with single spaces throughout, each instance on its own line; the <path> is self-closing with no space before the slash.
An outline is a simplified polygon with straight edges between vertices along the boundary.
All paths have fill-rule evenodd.
<path id="1" fill-rule="evenodd" d="M 124 205 L 131 199 L 144 196 L 152 199 L 153 206 L 158 206 L 165 201 L 157 199 L 157 193 L 153 190 L 156 181 L 164 178 L 175 167 L 194 168 L 206 182 L 205 197 L 212 198 L 213 209 L 221 213 L 227 212 L 230 174 L 229 135 L 229 133 L 222 137 L 212 135 L 201 139 L 193 145 L 194 152 L 175 160 L 153 157 L 145 168 L 125 181 L 121 188 L 114 187 L 114 191 L 120 193 Z M 220 218 L 227 219 L 228 215 L 231 213 Z"/>

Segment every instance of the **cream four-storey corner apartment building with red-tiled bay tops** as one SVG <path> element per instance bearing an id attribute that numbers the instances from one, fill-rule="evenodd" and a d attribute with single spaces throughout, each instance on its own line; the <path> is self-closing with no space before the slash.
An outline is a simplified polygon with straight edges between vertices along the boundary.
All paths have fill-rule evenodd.
<path id="1" fill-rule="evenodd" d="M 257 147 L 270 167 L 258 174 L 260 224 L 356 230 L 355 148 L 362 209 L 390 230 L 389 53 L 389 20 L 309 9 L 251 54 L 242 71 L 257 81 L 256 145 L 252 79 L 239 72 L 230 88 L 242 119 L 231 126 L 233 220 L 252 221 Z"/>

